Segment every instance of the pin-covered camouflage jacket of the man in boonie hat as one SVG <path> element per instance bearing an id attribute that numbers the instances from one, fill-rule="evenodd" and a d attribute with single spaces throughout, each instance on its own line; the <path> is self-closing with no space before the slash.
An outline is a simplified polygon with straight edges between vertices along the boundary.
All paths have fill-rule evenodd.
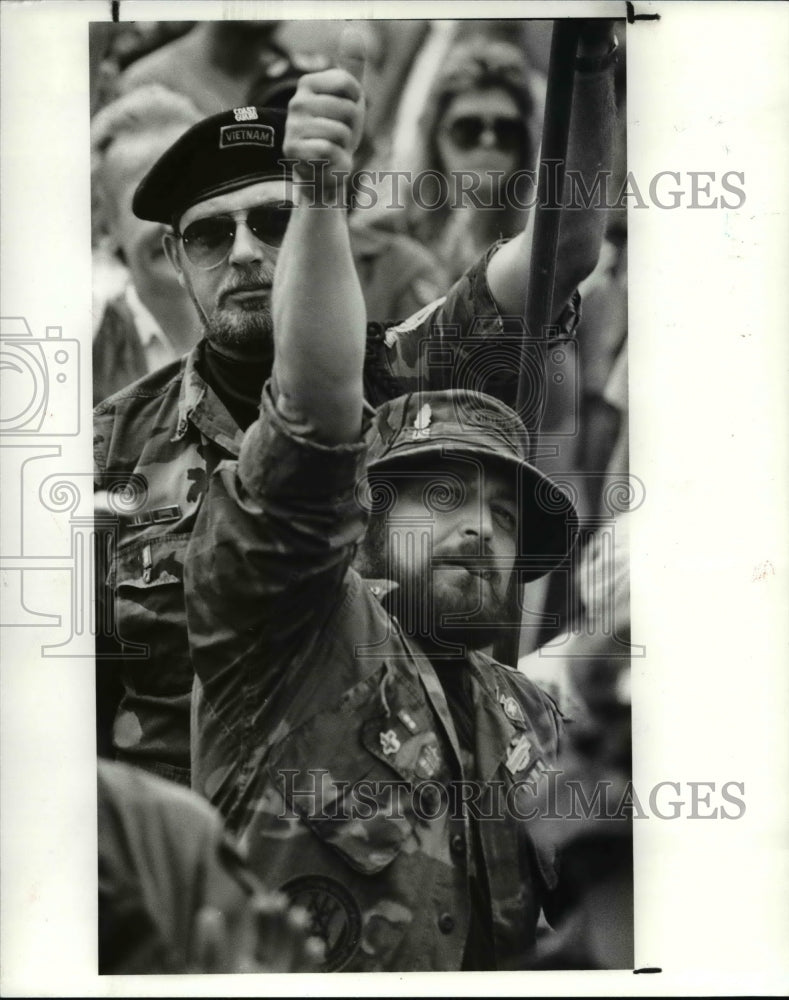
<path id="1" fill-rule="evenodd" d="M 186 562 L 193 783 L 253 872 L 307 908 L 327 970 L 459 969 L 472 870 L 493 966 L 522 968 L 556 883 L 527 782 L 555 762 L 560 716 L 471 654 L 469 766 L 429 659 L 381 606 L 392 585 L 350 568 L 363 465 L 361 444 L 299 438 L 264 395 L 212 477 Z"/>

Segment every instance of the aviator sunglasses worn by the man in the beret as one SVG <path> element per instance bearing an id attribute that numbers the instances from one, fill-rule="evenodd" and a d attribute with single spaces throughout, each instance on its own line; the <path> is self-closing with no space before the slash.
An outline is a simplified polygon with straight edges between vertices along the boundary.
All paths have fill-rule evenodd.
<path id="1" fill-rule="evenodd" d="M 255 239 L 269 247 L 282 246 L 292 205 L 258 205 L 207 219 L 196 219 L 180 234 L 188 260 L 204 271 L 219 267 L 230 253 L 236 229 L 243 222 Z"/>

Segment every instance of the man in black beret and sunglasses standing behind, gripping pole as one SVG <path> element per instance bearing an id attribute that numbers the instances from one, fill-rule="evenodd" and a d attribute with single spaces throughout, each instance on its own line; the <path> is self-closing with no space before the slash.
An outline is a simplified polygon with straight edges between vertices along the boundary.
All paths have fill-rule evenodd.
<path id="1" fill-rule="evenodd" d="M 289 105 L 289 128 L 318 129 L 313 159 L 324 158 L 325 144 L 344 136 L 348 123 L 361 128 L 362 90 L 343 59 L 302 77 Z M 601 65 L 584 74 L 580 88 L 582 141 L 574 148 L 590 181 L 610 155 L 611 76 Z M 99 566 L 106 584 L 99 620 L 111 623 L 97 638 L 99 678 L 117 678 L 121 688 L 118 696 L 109 692 L 99 713 L 100 742 L 120 759 L 184 782 L 193 676 L 184 555 L 208 477 L 220 461 L 238 456 L 271 372 L 271 288 L 295 182 L 303 180 L 280 162 L 284 126 L 284 115 L 262 107 L 212 116 L 185 133 L 143 179 L 134 211 L 172 226 L 166 252 L 204 336 L 180 362 L 95 411 L 97 508 L 114 503 L 117 509 L 114 497 L 131 498 L 114 545 L 105 546 L 111 549 L 107 565 Z M 349 157 L 344 169 L 350 168 Z M 569 212 L 562 227 L 568 250 L 555 319 L 568 335 L 577 321 L 573 289 L 596 261 L 600 216 Z M 315 253 L 318 266 L 319 246 Z M 368 402 L 417 388 L 450 388 L 469 377 L 474 388 L 514 401 L 523 334 L 505 318 L 522 315 L 528 260 L 525 234 L 497 245 L 446 297 L 396 327 L 378 328 L 367 343 Z M 287 266 L 287 255 L 279 266 Z M 312 291 L 305 277 L 294 294 L 309 297 Z M 314 322 L 322 324 L 319 313 Z M 430 350 L 429 338 L 435 344 L 445 334 L 451 343 Z M 475 371 L 482 375 L 476 378 Z"/>

